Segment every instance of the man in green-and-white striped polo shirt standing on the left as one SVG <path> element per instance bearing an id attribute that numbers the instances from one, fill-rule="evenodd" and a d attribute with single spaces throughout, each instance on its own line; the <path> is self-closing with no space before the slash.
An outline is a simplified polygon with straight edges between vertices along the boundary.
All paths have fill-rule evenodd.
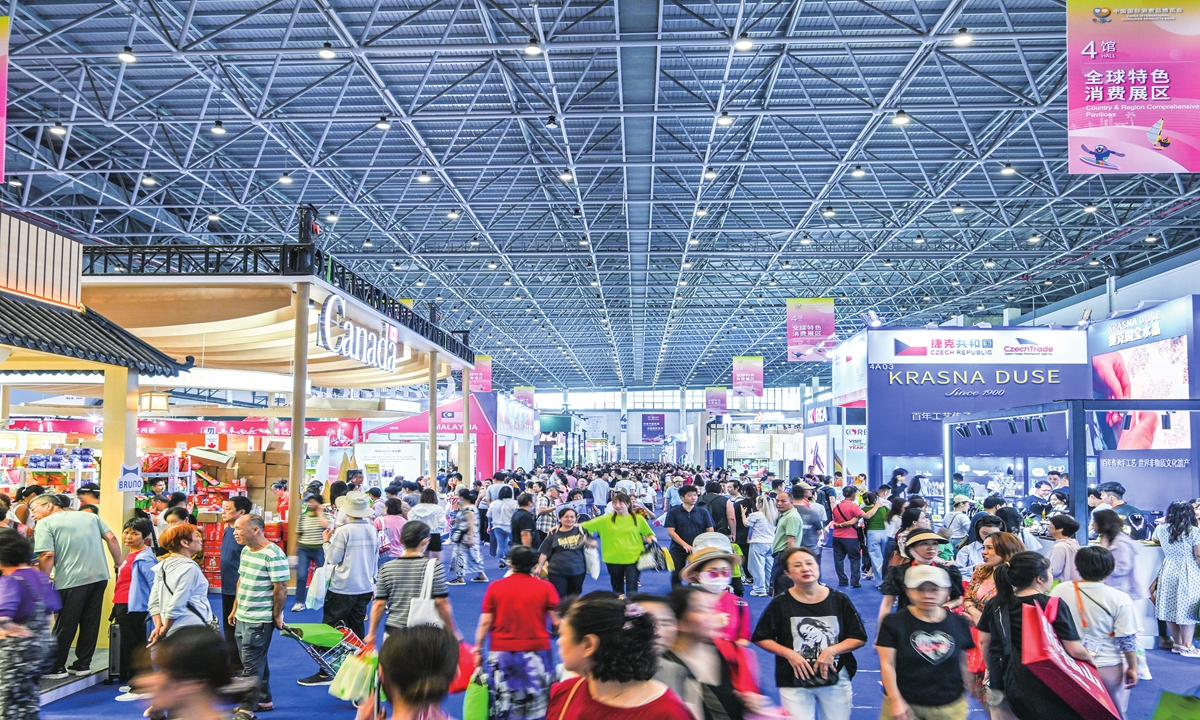
<path id="1" fill-rule="evenodd" d="M 283 601 L 288 596 L 288 557 L 266 539 L 266 527 L 258 515 L 242 515 L 233 532 L 241 550 L 238 596 L 229 622 L 235 625 L 242 677 L 254 678 L 256 686 L 234 712 L 234 720 L 253 720 L 259 710 L 274 710 L 271 670 L 266 652 L 275 629 L 283 629 Z"/>

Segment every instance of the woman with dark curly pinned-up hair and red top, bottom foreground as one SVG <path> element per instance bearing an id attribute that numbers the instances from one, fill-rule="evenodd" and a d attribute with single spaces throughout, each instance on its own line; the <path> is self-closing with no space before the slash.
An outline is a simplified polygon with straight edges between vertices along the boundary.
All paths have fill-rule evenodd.
<path id="1" fill-rule="evenodd" d="M 608 593 L 571 602 L 559 628 L 563 667 L 582 677 L 556 684 L 546 716 L 552 720 L 692 720 L 665 684 L 654 618 Z"/>

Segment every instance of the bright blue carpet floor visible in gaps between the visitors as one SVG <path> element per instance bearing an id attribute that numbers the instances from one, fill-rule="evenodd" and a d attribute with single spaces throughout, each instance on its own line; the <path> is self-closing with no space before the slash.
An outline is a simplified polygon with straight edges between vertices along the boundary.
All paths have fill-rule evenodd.
<path id="1" fill-rule="evenodd" d="M 488 576 L 500 577 L 502 572 L 496 568 L 496 563 L 488 558 Z M 608 589 L 608 578 L 602 574 L 599 580 L 588 578 L 584 592 Z M 833 570 L 832 553 L 824 553 L 823 577 L 830 586 L 836 586 L 836 575 Z M 479 620 L 479 610 L 482 604 L 484 590 L 487 586 L 482 583 L 468 583 L 466 586 L 450 588 L 450 599 L 454 604 L 455 620 L 460 631 L 469 641 L 474 640 L 475 626 Z M 642 592 L 665 593 L 670 589 L 670 577 L 666 572 L 649 572 L 642 575 Z M 850 596 L 863 616 L 869 637 L 874 640 L 876 623 L 875 618 L 880 607 L 880 594 L 872 584 L 864 583 L 863 588 L 842 588 L 850 590 Z M 748 588 L 749 592 L 749 588 Z M 221 607 L 220 598 L 214 596 L 214 607 Z M 751 614 L 755 619 L 767 606 L 766 598 L 750 598 Z M 286 620 L 290 623 L 319 623 L 320 613 L 287 612 Z M 757 650 L 760 660 L 760 679 L 763 690 L 778 700 L 774 686 L 773 656 Z M 859 674 L 854 678 L 854 712 L 852 720 L 875 720 L 880 716 L 880 703 L 882 689 L 880 685 L 878 658 L 871 646 L 856 653 L 858 659 Z M 1151 710 L 1158 700 L 1159 692 L 1166 688 L 1176 692 L 1187 691 L 1200 684 L 1200 660 L 1187 660 L 1178 655 L 1163 650 L 1148 652 L 1150 667 L 1154 674 L 1153 680 L 1144 680 L 1133 691 L 1129 714 L 1127 720 L 1147 720 Z M 296 685 L 296 679 L 312 674 L 316 665 L 305 655 L 304 650 L 294 641 L 275 636 L 270 650 L 271 664 L 271 689 L 275 694 L 275 707 L 272 713 L 264 713 L 263 720 L 292 720 L 292 719 L 331 719 L 354 718 L 354 708 L 349 703 L 336 700 L 329 695 L 326 688 L 301 688 Z M 50 703 L 42 708 L 42 716 L 48 720 L 83 720 L 92 718 L 104 718 L 107 720 L 131 719 L 142 716 L 144 706 L 140 703 L 119 703 L 113 701 L 116 689 L 108 685 L 96 685 L 83 692 L 65 700 Z M 446 710 L 454 718 L 462 716 L 462 696 L 455 695 L 448 698 Z M 971 719 L 984 719 L 986 714 L 978 707 L 972 707 Z"/>

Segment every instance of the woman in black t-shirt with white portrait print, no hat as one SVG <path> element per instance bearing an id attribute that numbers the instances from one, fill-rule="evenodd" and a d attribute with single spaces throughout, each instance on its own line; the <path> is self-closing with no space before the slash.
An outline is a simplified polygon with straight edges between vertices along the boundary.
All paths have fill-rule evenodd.
<path id="1" fill-rule="evenodd" d="M 775 685 L 792 718 L 848 718 L 853 650 L 866 644 L 863 618 L 845 593 L 821 584 L 821 566 L 806 547 L 779 559 L 792 587 L 776 595 L 751 641 L 775 655 Z"/>

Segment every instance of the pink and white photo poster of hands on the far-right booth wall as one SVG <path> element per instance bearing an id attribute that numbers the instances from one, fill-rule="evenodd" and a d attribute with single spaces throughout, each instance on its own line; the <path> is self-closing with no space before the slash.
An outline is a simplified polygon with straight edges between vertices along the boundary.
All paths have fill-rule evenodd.
<path id="1" fill-rule="evenodd" d="M 1187 340 L 1181 335 L 1096 355 L 1092 358 L 1093 394 L 1108 400 L 1186 400 Z M 1097 413 L 1093 419 L 1097 450 L 1181 450 L 1190 446 L 1188 413 L 1145 412 L 1126 418 L 1122 413 Z"/>

